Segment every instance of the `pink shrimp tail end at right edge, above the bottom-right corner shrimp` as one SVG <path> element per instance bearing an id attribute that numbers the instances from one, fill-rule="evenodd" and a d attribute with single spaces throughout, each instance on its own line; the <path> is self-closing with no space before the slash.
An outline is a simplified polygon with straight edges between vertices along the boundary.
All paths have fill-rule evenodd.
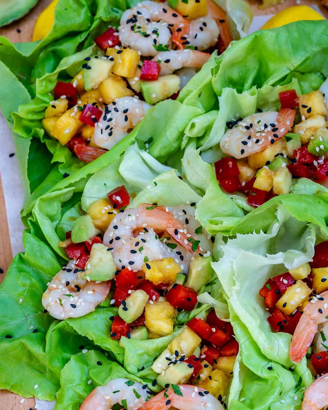
<path id="1" fill-rule="evenodd" d="M 327 314 L 328 291 L 313 296 L 311 303 L 305 306 L 289 346 L 289 356 L 293 362 L 301 362 L 317 333 L 318 325 L 327 321 Z"/>

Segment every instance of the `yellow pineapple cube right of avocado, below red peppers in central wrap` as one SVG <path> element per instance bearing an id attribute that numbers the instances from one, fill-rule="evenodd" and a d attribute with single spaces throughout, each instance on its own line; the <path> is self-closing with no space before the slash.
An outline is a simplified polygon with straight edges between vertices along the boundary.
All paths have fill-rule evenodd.
<path id="1" fill-rule="evenodd" d="M 158 336 L 171 335 L 175 309 L 169 302 L 147 303 L 145 307 L 146 328 Z"/>

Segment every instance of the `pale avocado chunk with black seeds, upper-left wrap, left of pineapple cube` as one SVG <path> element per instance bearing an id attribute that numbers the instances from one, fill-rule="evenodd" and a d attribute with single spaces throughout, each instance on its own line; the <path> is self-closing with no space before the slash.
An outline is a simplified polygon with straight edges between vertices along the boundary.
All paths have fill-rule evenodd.
<path id="1" fill-rule="evenodd" d="M 89 57 L 87 57 L 89 58 Z M 108 56 L 94 56 L 86 62 L 83 68 L 83 80 L 85 89 L 97 88 L 99 84 L 112 74 L 114 60 Z"/>

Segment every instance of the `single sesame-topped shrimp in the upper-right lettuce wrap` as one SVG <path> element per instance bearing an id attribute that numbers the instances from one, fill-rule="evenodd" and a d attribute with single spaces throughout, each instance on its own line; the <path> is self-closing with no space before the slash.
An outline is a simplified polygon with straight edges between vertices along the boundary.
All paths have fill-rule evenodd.
<path id="1" fill-rule="evenodd" d="M 225 132 L 220 148 L 226 155 L 238 159 L 253 155 L 287 134 L 295 113 L 294 109 L 285 108 L 250 115 Z"/>

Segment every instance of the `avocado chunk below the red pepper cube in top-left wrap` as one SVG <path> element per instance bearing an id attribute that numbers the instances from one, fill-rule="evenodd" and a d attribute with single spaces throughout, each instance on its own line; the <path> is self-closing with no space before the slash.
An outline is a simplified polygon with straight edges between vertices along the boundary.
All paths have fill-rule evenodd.
<path id="1" fill-rule="evenodd" d="M 140 81 L 140 85 L 146 103 L 156 104 L 179 91 L 180 77 L 174 74 L 163 75 L 155 81 Z"/>

